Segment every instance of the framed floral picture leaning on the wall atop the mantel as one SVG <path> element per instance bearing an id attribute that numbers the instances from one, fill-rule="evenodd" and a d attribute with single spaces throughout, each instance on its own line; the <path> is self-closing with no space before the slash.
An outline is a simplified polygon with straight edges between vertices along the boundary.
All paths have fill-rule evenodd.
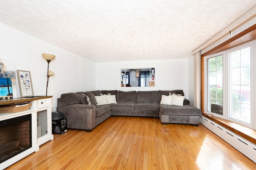
<path id="1" fill-rule="evenodd" d="M 17 77 L 20 86 L 20 97 L 34 96 L 30 71 L 17 70 Z"/>

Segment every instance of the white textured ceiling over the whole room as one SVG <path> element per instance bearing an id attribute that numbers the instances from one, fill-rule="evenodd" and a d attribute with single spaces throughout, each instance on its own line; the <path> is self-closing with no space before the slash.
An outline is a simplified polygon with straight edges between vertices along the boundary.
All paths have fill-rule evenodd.
<path id="1" fill-rule="evenodd" d="M 0 21 L 95 62 L 183 59 L 254 6 L 256 0 L 0 0 Z"/>

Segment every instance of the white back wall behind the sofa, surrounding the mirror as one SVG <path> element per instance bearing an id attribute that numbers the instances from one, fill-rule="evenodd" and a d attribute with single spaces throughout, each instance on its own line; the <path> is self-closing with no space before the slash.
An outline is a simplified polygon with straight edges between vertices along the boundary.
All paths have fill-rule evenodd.
<path id="1" fill-rule="evenodd" d="M 194 96 L 189 96 L 188 64 L 188 59 L 96 63 L 96 90 L 146 91 L 182 89 L 186 98 L 194 98 Z M 155 68 L 155 87 L 120 87 L 121 68 L 152 67 Z"/>

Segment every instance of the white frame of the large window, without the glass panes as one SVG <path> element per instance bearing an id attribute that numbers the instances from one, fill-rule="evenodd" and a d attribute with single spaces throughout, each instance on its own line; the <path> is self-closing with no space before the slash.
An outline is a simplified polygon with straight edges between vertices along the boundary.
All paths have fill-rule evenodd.
<path id="1" fill-rule="evenodd" d="M 233 119 L 230 117 L 230 90 L 229 90 L 229 84 L 230 84 L 230 74 L 229 74 L 229 54 L 233 51 L 237 51 L 239 49 L 243 49 L 250 46 L 251 50 L 251 56 L 250 56 L 250 67 L 251 67 L 251 123 L 244 123 L 242 121 L 238 121 L 236 119 Z M 223 62 L 223 115 L 219 115 L 216 113 L 212 113 L 207 111 L 208 109 L 208 64 L 207 59 L 212 57 L 217 57 L 219 55 L 223 55 L 222 62 Z M 250 41 L 248 43 L 239 45 L 237 47 L 234 47 L 232 49 L 228 49 L 226 51 L 222 51 L 219 53 L 215 53 L 209 56 L 204 57 L 204 66 L 206 66 L 204 69 L 204 89 L 206 90 L 204 93 L 204 113 L 208 113 L 211 115 L 214 115 L 216 117 L 221 117 L 223 119 L 227 119 L 229 121 L 232 121 L 234 123 L 238 123 L 240 125 L 244 125 L 246 127 L 249 127 L 251 129 L 256 130 L 256 40 Z"/>

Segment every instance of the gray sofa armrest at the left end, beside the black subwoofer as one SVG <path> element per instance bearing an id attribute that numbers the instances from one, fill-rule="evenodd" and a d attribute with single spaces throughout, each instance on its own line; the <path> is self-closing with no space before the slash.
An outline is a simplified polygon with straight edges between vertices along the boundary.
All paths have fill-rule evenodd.
<path id="1" fill-rule="evenodd" d="M 92 130 L 96 124 L 96 107 L 87 104 L 58 106 L 57 111 L 67 118 L 67 127 L 71 129 Z"/>

